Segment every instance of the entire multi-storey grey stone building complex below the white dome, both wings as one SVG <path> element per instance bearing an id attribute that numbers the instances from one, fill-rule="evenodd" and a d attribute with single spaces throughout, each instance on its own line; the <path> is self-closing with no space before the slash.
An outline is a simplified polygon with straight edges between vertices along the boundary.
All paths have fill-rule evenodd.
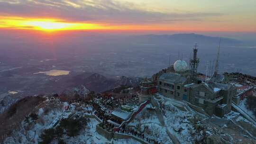
<path id="1" fill-rule="evenodd" d="M 223 117 L 230 112 L 232 98 L 236 93 L 236 88 L 231 84 L 220 83 L 220 81 L 214 81 L 215 79 L 192 80 L 189 70 L 185 68 L 160 73 L 155 78 L 160 94 L 203 108 L 210 116 L 214 114 Z"/>

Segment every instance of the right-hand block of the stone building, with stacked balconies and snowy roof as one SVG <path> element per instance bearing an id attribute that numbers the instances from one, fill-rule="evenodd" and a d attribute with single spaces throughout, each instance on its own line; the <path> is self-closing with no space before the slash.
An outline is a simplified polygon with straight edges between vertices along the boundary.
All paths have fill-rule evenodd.
<path id="1" fill-rule="evenodd" d="M 188 91 L 188 102 L 203 108 L 210 116 L 223 117 L 231 110 L 236 89 L 231 84 L 209 81 L 184 85 Z"/>

